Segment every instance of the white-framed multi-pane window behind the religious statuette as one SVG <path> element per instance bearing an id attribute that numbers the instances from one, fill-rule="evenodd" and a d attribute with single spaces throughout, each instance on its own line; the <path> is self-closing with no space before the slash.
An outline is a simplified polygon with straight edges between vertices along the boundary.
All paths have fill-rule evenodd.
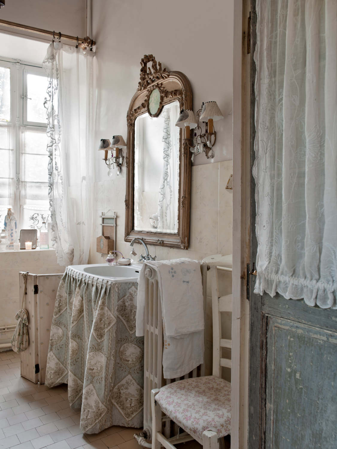
<path id="1" fill-rule="evenodd" d="M 48 79 L 41 67 L 0 58 L 0 225 L 12 207 L 19 229 L 48 220 Z"/>

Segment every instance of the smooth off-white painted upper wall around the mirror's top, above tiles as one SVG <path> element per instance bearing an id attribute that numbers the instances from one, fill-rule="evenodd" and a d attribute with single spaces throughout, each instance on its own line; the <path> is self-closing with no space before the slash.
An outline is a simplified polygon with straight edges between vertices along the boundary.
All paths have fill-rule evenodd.
<path id="1" fill-rule="evenodd" d="M 217 101 L 224 119 L 215 158 L 195 165 L 232 159 L 232 72 L 234 0 L 92 0 L 92 30 L 98 63 L 96 140 L 127 136 L 126 115 L 136 92 L 140 59 L 153 54 L 167 70 L 183 72 L 191 82 L 193 110 Z M 231 115 L 228 115 L 231 114 Z M 107 180 L 96 153 L 96 181 Z M 125 172 L 122 174 L 125 176 Z"/>

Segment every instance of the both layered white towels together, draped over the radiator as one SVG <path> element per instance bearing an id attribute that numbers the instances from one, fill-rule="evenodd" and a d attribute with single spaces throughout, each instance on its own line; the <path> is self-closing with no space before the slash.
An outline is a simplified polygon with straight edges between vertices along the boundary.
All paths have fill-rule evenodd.
<path id="1" fill-rule="evenodd" d="M 163 375 L 174 379 L 204 362 L 204 301 L 200 262 L 177 259 L 145 262 L 138 279 L 136 335 L 144 335 L 145 269 L 155 269 L 162 298 Z M 168 335 L 171 332 L 175 335 Z"/>

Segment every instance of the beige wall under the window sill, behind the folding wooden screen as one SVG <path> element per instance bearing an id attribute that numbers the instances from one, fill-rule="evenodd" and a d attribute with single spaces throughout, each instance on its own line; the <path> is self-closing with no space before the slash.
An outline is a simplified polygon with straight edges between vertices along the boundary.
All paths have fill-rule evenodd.
<path id="1" fill-rule="evenodd" d="M 65 267 L 57 265 L 56 252 L 49 250 L 20 250 L 0 252 L 0 326 L 16 324 L 15 314 L 21 308 L 19 298 L 19 272 L 31 274 L 64 273 Z M 0 342 L 8 343 L 13 331 L 0 332 Z"/>

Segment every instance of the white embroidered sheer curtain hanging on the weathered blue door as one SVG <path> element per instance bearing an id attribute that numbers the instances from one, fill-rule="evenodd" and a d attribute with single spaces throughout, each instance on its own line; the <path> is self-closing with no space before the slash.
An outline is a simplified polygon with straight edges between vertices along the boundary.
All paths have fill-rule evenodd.
<path id="1" fill-rule="evenodd" d="M 255 293 L 337 308 L 337 2 L 256 9 Z"/>

